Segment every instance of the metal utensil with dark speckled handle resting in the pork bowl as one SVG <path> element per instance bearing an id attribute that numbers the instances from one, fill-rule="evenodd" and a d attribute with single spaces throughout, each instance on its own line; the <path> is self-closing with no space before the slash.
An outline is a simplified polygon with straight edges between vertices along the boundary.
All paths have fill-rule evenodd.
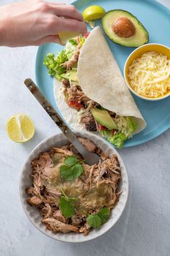
<path id="1" fill-rule="evenodd" d="M 96 153 L 91 153 L 86 148 L 84 148 L 84 145 L 79 142 L 76 135 L 71 131 L 71 129 L 68 127 L 66 122 L 63 120 L 63 118 L 55 111 L 53 106 L 46 100 L 44 95 L 40 92 L 40 90 L 35 85 L 35 82 L 33 82 L 30 78 L 27 78 L 24 80 L 24 84 L 27 86 L 27 88 L 30 90 L 30 92 L 35 96 L 37 101 L 41 104 L 41 106 L 45 109 L 45 111 L 48 113 L 51 119 L 55 122 L 55 124 L 60 127 L 63 134 L 67 137 L 69 142 L 73 144 L 73 146 L 76 148 L 79 153 L 84 157 L 85 163 L 89 164 L 89 166 L 99 163 L 99 160 L 101 159 L 99 155 Z"/>

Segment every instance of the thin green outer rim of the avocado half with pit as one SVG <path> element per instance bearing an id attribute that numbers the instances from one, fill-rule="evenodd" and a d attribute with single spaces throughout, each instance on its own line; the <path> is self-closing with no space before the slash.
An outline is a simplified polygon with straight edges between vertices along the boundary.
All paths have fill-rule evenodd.
<path id="1" fill-rule="evenodd" d="M 107 15 L 108 15 L 109 13 L 112 13 L 112 12 L 123 12 L 123 13 L 125 13 L 125 14 L 128 14 L 130 17 L 133 17 L 133 19 L 135 19 L 135 21 L 138 23 L 138 25 L 139 25 L 139 26 L 143 29 L 143 31 L 145 32 L 145 34 L 146 34 L 146 41 L 145 41 L 144 43 L 139 44 L 138 46 L 128 46 L 128 45 L 125 45 L 124 43 L 121 43 L 121 39 L 122 39 L 122 38 L 120 38 L 120 42 L 115 41 L 115 40 L 113 39 L 112 35 L 109 35 L 109 33 L 107 33 L 107 31 L 106 31 L 106 29 L 105 29 L 105 27 L 104 27 L 104 26 L 105 26 L 105 25 L 104 25 L 104 17 L 106 18 Z M 130 48 L 143 46 L 143 44 L 148 43 L 148 41 L 149 41 L 149 34 L 148 34 L 148 31 L 146 30 L 146 27 L 144 27 L 143 24 L 138 20 L 138 18 L 135 17 L 135 16 L 134 16 L 133 14 L 131 14 L 130 12 L 125 11 L 125 10 L 123 10 L 123 9 L 113 9 L 113 10 L 110 10 L 109 12 L 106 12 L 106 14 L 104 15 L 104 17 L 102 18 L 102 28 L 103 28 L 103 30 L 104 30 L 104 33 L 107 35 L 107 37 L 109 38 L 109 40 L 112 40 L 112 42 L 114 42 L 114 43 L 116 43 L 116 44 L 118 44 L 118 45 L 120 45 L 120 46 L 125 46 L 125 47 L 130 47 Z M 123 15 L 122 15 L 121 17 L 123 17 Z M 136 27 L 135 27 L 135 28 L 136 28 Z M 113 35 L 114 35 L 114 32 L 112 32 L 112 33 L 113 33 Z M 125 39 L 125 38 L 124 38 L 124 39 Z"/>

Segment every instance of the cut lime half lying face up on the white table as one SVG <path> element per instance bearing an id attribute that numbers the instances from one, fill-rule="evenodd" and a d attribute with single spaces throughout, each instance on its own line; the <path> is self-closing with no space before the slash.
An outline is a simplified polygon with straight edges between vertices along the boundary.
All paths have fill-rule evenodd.
<path id="1" fill-rule="evenodd" d="M 6 124 L 6 132 L 14 142 L 27 142 L 35 134 L 35 127 L 29 116 L 16 114 Z"/>

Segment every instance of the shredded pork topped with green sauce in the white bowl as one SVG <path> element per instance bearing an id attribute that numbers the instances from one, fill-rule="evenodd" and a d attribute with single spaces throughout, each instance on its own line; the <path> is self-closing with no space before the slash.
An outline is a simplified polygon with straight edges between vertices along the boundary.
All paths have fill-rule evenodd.
<path id="1" fill-rule="evenodd" d="M 30 195 L 27 203 L 40 211 L 42 223 L 53 232 L 73 231 L 86 235 L 91 230 L 86 217 L 98 213 L 102 208 L 114 208 L 119 200 L 120 192 L 117 192 L 117 187 L 121 174 L 117 156 L 111 155 L 108 158 L 90 140 L 79 140 L 87 150 L 101 155 L 102 161 L 93 166 L 82 163 L 84 171 L 73 181 L 68 182 L 60 176 L 60 167 L 66 156 L 76 155 L 82 160 L 73 145 L 42 152 L 32 160 L 32 186 L 26 189 Z M 66 218 L 61 213 L 60 197 L 63 192 L 68 197 L 77 199 L 75 213 L 71 218 Z"/>

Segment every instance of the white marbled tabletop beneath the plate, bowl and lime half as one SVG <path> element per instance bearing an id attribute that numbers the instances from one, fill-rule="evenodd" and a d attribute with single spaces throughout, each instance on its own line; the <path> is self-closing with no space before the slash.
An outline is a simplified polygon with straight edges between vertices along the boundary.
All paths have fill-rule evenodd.
<path id="1" fill-rule="evenodd" d="M 170 7 L 170 0 L 162 2 Z M 27 220 L 19 200 L 22 165 L 38 142 L 59 132 L 23 85 L 26 77 L 35 79 L 36 51 L 36 47 L 0 48 L 0 255 L 169 256 L 170 130 L 144 145 L 121 150 L 130 195 L 122 218 L 104 236 L 65 244 L 41 234 Z M 35 137 L 24 145 L 10 141 L 5 131 L 9 116 L 21 112 L 32 117 L 36 129 Z"/>

